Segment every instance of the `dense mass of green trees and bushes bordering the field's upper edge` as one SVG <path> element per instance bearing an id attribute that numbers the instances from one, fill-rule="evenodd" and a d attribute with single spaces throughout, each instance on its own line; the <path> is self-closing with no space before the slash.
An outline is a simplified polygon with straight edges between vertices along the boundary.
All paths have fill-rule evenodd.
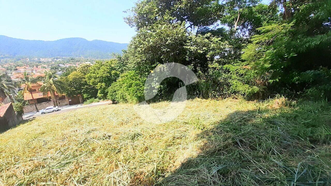
<path id="1" fill-rule="evenodd" d="M 180 63 L 198 76 L 188 87 L 192 97 L 330 99 L 331 1 L 259 2 L 138 2 L 125 18 L 137 34 L 119 61 L 109 62 L 112 77 L 96 82 L 91 74 L 87 80 L 100 98 L 111 85 L 109 99 L 136 102 L 155 67 Z M 92 67 L 93 73 L 103 65 Z M 171 99 L 180 86 L 181 80 L 167 78 L 156 99 Z"/>

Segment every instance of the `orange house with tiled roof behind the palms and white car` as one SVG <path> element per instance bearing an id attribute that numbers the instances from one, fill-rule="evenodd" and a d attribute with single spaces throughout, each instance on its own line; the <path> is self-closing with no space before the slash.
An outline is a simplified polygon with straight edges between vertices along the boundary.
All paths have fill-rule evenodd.
<path id="1" fill-rule="evenodd" d="M 40 92 L 39 89 L 43 85 L 43 83 L 38 82 L 32 85 L 32 88 L 29 92 L 24 92 L 24 100 L 28 100 L 29 104 L 34 104 L 34 103 L 43 103 L 43 102 L 48 102 L 51 100 L 51 93 L 48 92 L 47 94 L 44 95 L 43 92 Z M 24 85 L 23 85 L 24 87 Z M 65 99 L 66 97 L 64 95 L 58 95 L 55 93 L 56 96 L 59 97 L 59 99 Z"/>

